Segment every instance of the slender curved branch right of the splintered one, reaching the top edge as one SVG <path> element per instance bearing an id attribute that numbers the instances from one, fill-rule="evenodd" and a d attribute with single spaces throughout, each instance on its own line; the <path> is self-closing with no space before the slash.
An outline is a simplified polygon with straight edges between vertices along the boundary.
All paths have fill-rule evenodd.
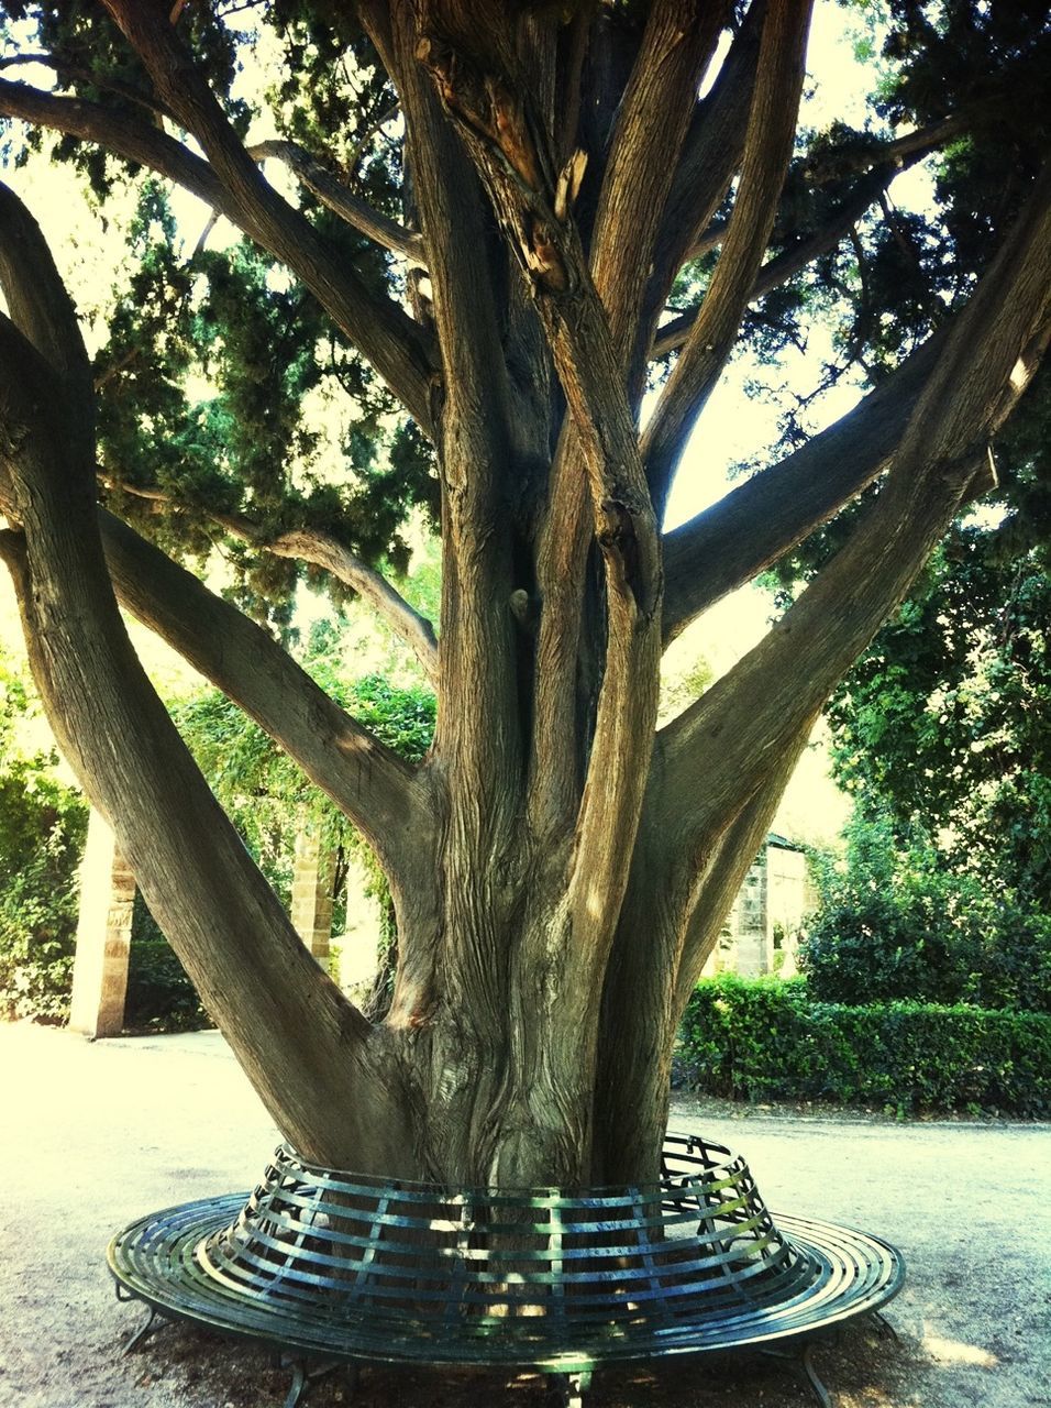
<path id="1" fill-rule="evenodd" d="M 663 504 L 682 445 L 733 348 L 792 155 L 803 83 L 809 0 L 770 0 L 744 165 L 722 255 L 701 314 L 643 438 L 646 477 Z"/>

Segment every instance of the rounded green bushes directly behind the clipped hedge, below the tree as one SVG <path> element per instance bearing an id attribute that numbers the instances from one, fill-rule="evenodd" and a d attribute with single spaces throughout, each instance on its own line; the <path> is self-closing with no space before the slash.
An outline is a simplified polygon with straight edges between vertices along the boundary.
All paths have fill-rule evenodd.
<path id="1" fill-rule="evenodd" d="M 945 865 L 913 828 L 857 817 L 841 863 L 819 857 L 820 904 L 799 950 L 813 998 L 1051 1011 L 1051 917 Z"/>

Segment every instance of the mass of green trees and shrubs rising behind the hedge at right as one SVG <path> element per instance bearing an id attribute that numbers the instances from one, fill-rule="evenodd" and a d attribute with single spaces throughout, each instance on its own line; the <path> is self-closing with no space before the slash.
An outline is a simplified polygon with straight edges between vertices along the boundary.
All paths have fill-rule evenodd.
<path id="1" fill-rule="evenodd" d="M 820 998 L 1051 1004 L 1051 574 L 1036 470 L 1016 487 L 993 528 L 957 527 L 829 707 L 857 804 L 802 953 Z"/>

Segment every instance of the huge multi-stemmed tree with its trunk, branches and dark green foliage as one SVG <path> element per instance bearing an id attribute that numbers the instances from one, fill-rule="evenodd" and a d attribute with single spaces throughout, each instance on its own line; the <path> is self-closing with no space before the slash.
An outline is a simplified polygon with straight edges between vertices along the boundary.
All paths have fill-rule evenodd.
<path id="1" fill-rule="evenodd" d="M 139 221 L 138 291 L 93 369 L 38 228 L 3 194 L 0 541 L 35 676 L 151 910 L 304 1155 L 497 1186 L 653 1177 L 678 1014 L 794 760 L 985 490 L 989 441 L 1051 334 L 1051 173 L 1043 115 L 1021 101 L 1041 93 L 1045 31 L 1024 7 L 902 0 L 872 128 L 801 131 L 794 161 L 803 0 L 249 7 L 281 54 L 266 101 L 283 135 L 253 145 L 256 94 L 232 92 L 243 10 L 7 6 L 25 41 L 14 62 L 42 54 L 55 86 L 4 77 L 0 113 L 63 134 L 103 199 L 145 168 L 249 241 L 176 266 L 163 221 Z M 929 239 L 886 190 L 934 151 L 951 199 Z M 877 284 L 874 260 L 892 258 L 907 277 Z M 871 393 L 663 534 L 739 338 L 775 355 L 844 303 L 858 311 L 844 355 Z M 225 401 L 184 414 L 193 356 L 212 358 Z M 322 365 L 357 398 L 346 448 L 376 494 L 352 491 L 364 480 L 349 469 L 335 490 L 293 473 L 311 452 L 293 410 L 322 394 Z M 395 406 L 412 431 L 391 428 Z M 870 484 L 765 641 L 657 731 L 663 643 Z M 398 518 L 429 496 L 438 632 L 367 565 L 397 556 Z M 159 510 L 155 542 L 132 498 Z M 371 534 L 369 503 L 386 514 Z M 158 546 L 215 535 L 250 551 L 245 601 L 272 628 L 280 603 L 263 598 L 301 562 L 412 641 L 439 697 L 419 766 Z M 291 931 L 117 598 L 367 836 L 400 931 L 381 1024 Z"/>

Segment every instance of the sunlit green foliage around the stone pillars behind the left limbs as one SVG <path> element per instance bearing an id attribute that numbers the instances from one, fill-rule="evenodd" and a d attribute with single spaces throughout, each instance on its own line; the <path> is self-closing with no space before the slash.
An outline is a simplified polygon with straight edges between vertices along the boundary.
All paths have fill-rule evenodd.
<path id="1" fill-rule="evenodd" d="M 345 649 L 339 631 L 317 624 L 308 669 L 388 748 L 419 760 L 433 735 L 433 694 L 397 689 L 378 674 L 348 683 Z M 180 701 L 173 714 L 283 901 L 291 891 L 295 829 L 310 818 L 335 848 L 360 848 L 373 891 L 386 907 L 393 950 L 390 894 L 371 852 L 300 769 L 217 690 Z M 37 746 L 39 718 L 32 687 L 0 656 L 0 1015 L 62 1021 L 69 1014 L 87 807 L 79 791 L 58 780 L 53 746 Z M 207 1025 L 193 984 L 141 895 L 135 904 L 127 1025 L 162 1031 Z"/>

